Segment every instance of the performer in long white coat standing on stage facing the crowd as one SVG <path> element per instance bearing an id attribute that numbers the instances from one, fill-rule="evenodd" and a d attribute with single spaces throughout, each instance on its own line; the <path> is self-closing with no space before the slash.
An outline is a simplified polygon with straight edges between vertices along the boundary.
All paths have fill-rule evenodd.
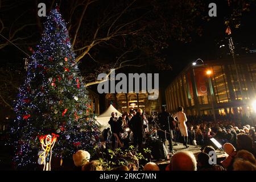
<path id="1" fill-rule="evenodd" d="M 180 133 L 181 133 L 181 136 L 184 137 L 184 140 L 183 140 L 183 145 L 185 148 L 188 148 L 187 146 L 187 142 L 188 142 L 188 129 L 187 129 L 187 125 L 185 122 L 187 122 L 187 117 L 186 117 L 186 114 L 183 113 L 183 107 L 178 107 L 177 109 L 177 113 L 174 115 L 174 119 L 177 118 L 178 119 L 178 126 L 179 126 L 179 129 L 180 129 Z"/>

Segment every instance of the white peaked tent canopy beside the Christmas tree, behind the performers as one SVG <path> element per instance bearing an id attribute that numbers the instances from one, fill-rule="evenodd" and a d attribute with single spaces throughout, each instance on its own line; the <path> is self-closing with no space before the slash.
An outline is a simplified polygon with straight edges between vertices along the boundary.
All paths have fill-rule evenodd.
<path id="1" fill-rule="evenodd" d="M 122 113 L 120 113 L 117 109 L 115 109 L 115 107 L 112 104 L 110 104 L 109 108 L 96 118 L 98 125 L 100 125 L 101 131 L 110 127 L 109 119 L 111 118 L 111 113 L 113 112 L 117 113 L 118 116 L 122 115 Z"/>

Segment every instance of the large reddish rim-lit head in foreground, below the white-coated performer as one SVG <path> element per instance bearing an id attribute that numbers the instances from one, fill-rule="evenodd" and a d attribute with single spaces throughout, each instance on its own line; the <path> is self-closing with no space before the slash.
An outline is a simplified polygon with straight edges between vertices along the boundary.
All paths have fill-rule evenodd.
<path id="1" fill-rule="evenodd" d="M 171 158 L 171 171 L 196 171 L 196 164 L 196 158 L 191 152 L 178 152 Z"/>

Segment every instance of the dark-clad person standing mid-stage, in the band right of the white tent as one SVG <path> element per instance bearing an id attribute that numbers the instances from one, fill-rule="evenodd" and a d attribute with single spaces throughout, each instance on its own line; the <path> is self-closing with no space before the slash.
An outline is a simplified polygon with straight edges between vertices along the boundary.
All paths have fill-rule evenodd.
<path id="1" fill-rule="evenodd" d="M 130 128 L 133 131 L 134 146 L 138 145 L 139 151 L 142 151 L 142 144 L 145 138 L 144 121 L 142 118 L 142 109 L 138 109 L 137 113 L 131 118 Z"/>

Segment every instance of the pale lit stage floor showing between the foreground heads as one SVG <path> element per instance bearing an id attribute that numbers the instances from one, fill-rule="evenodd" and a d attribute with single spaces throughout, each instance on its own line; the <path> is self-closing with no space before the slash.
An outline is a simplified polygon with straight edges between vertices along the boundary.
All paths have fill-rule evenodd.
<path id="1" fill-rule="evenodd" d="M 192 146 L 188 144 L 188 148 L 184 148 L 182 143 L 176 143 L 177 145 L 175 145 L 174 143 L 174 151 L 176 152 L 180 152 L 180 151 L 189 151 L 192 152 L 196 158 L 197 155 L 201 152 L 200 148 L 201 146 Z M 216 151 L 217 152 L 217 163 L 220 162 L 221 160 L 224 160 L 226 158 L 226 154 L 225 152 L 221 152 L 221 151 Z M 160 160 L 160 161 L 152 161 L 156 164 L 158 164 L 160 170 L 164 170 L 166 168 L 166 166 L 170 163 L 170 159 L 167 160 Z"/>

